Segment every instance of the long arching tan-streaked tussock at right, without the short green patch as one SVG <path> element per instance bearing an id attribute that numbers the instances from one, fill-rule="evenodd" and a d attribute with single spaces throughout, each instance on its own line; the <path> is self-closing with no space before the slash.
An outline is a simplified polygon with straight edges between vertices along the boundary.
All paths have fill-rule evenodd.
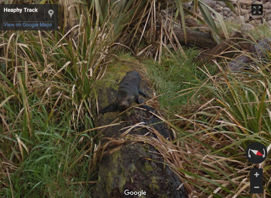
<path id="1" fill-rule="evenodd" d="M 256 62 L 255 58 L 251 59 Z M 205 104 L 196 103 L 198 108 L 192 106 L 189 115 L 176 114 L 181 118 L 176 124 L 184 129 L 176 142 L 184 142 L 190 148 L 189 167 L 196 175 L 193 171 L 184 172 L 195 178 L 190 183 L 202 197 L 250 196 L 250 168 L 263 168 L 263 196 L 270 196 L 270 157 L 258 165 L 245 157 L 245 150 L 252 142 L 263 143 L 268 151 L 271 148 L 270 75 L 265 70 L 270 68 L 270 60 L 258 60 L 260 70 L 251 65 L 252 70 L 241 73 L 212 75 L 205 67 L 202 72 L 208 78 L 190 98 L 195 103 L 202 95 Z M 187 108 L 190 109 L 189 104 Z"/>

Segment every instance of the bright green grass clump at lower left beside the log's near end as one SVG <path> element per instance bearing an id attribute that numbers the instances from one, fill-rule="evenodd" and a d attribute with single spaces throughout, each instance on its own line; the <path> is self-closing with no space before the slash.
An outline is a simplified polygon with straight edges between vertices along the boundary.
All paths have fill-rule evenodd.
<path id="1" fill-rule="evenodd" d="M 64 124 L 64 123 L 63 123 Z M 66 123 L 68 124 L 68 123 Z M 67 125 L 68 126 L 68 125 Z M 73 135 L 68 135 L 66 139 L 59 136 L 61 131 L 72 133 L 68 128 L 63 126 L 60 130 L 55 128 L 36 132 L 36 136 L 44 136 L 43 140 L 34 146 L 31 154 L 11 177 L 14 184 L 13 193 L 16 197 L 77 197 L 78 186 L 71 185 L 67 182 L 68 177 L 71 181 L 87 181 L 88 162 L 69 166 L 72 163 L 72 156 L 80 153 L 80 150 L 72 146 Z M 70 136 L 70 137 L 69 137 Z M 87 185 L 81 189 L 81 197 L 88 197 Z M 4 193 L 4 194 L 3 194 Z M 11 196 L 10 188 L 1 189 L 1 196 Z"/>

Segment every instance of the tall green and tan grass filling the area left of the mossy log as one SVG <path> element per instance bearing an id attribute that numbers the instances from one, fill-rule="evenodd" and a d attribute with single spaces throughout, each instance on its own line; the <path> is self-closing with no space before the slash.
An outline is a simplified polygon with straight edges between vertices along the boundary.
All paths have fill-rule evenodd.
<path id="1" fill-rule="evenodd" d="M 75 35 L 2 32 L 1 197 L 89 197 L 95 131 L 80 132 L 94 128 L 91 88 L 113 42 L 98 22 L 81 15 Z"/>

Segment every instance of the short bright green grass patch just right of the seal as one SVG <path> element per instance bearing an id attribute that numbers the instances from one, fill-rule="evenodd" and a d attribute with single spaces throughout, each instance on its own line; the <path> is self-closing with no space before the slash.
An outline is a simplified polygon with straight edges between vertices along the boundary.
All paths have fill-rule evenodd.
<path id="1" fill-rule="evenodd" d="M 183 105 L 190 103 L 190 97 L 195 93 L 194 87 L 200 85 L 200 82 L 206 79 L 205 74 L 198 69 L 194 58 L 198 55 L 197 48 L 184 48 L 186 58 L 180 56 L 177 52 L 163 53 L 161 64 L 152 60 L 144 62 L 147 69 L 147 76 L 154 85 L 159 97 L 160 107 L 166 110 L 169 115 L 180 112 Z M 210 72 L 216 71 L 215 66 L 210 66 Z M 190 91 L 189 94 L 182 94 L 182 91 Z M 174 97 L 177 97 L 173 99 Z"/>

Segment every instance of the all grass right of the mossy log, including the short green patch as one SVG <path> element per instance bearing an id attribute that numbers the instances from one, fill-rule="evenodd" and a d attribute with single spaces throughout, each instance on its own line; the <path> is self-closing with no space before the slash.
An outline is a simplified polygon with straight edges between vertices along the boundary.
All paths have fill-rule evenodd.
<path id="1" fill-rule="evenodd" d="M 175 167 L 186 181 L 186 188 L 196 197 L 251 197 L 251 168 L 264 170 L 264 193 L 259 197 L 271 194 L 270 155 L 261 164 L 251 164 L 245 157 L 245 150 L 252 142 L 263 143 L 268 152 L 271 148 L 271 58 L 264 46 L 262 50 L 264 55 L 259 57 L 236 49 L 236 53 L 252 60 L 246 71 L 222 71 L 224 61 L 214 62 L 214 66 L 222 71 L 216 73 L 208 65 L 191 66 L 189 59 L 190 70 L 187 70 L 185 61 L 176 55 L 162 59 L 155 69 L 148 66 L 154 87 L 164 93 L 159 100 L 161 106 L 170 109 L 169 115 L 174 114 L 165 121 L 176 139 L 166 143 L 173 147 L 162 153 L 174 150 L 173 155 L 179 156 L 166 157 L 169 160 L 166 163 Z M 227 62 L 228 58 L 222 58 Z M 175 67 L 182 68 L 180 71 L 186 83 L 175 85 L 176 79 L 180 79 Z M 195 71 L 198 76 L 191 75 Z M 175 95 L 172 94 L 174 91 Z M 175 101 L 171 103 L 171 99 Z M 174 160 L 179 158 L 182 163 Z"/>

